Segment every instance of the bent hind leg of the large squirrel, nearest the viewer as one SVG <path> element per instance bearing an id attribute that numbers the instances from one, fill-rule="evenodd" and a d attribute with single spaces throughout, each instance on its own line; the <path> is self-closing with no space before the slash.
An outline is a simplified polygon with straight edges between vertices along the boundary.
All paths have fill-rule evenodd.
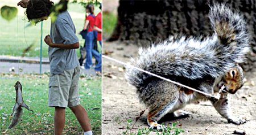
<path id="1" fill-rule="evenodd" d="M 150 128 L 161 129 L 158 121 L 179 108 L 179 88 L 164 80 L 154 80 L 139 95 L 148 106 L 147 122 Z M 147 101 L 146 101 L 147 99 Z"/>

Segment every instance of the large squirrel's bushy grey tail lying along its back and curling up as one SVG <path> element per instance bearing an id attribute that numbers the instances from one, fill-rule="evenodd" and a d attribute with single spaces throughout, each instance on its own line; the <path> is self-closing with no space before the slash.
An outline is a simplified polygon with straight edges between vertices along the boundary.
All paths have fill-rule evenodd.
<path id="1" fill-rule="evenodd" d="M 218 78 L 238 63 L 243 63 L 250 50 L 246 22 L 237 11 L 225 5 L 210 7 L 209 19 L 214 34 L 204 40 L 171 36 L 168 40 L 139 49 L 130 64 L 163 77 L 189 80 Z M 147 84 L 150 75 L 126 67 L 126 78 L 137 88 Z"/>

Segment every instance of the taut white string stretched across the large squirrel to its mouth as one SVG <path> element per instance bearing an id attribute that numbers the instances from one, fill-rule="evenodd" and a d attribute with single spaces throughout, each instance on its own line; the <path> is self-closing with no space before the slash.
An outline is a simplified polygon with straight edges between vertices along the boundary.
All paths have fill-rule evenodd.
<path id="1" fill-rule="evenodd" d="M 119 61 L 119 60 L 117 60 L 117 59 L 110 58 L 109 56 L 102 55 L 102 57 L 104 57 L 104 58 L 106 58 L 106 59 L 109 59 L 109 60 L 113 60 L 114 62 L 117 62 L 117 63 L 123 64 L 123 65 L 125 65 L 125 66 L 129 66 L 129 67 L 135 68 L 135 69 L 137 69 L 137 70 L 139 70 L 139 71 L 142 71 L 142 72 L 144 72 L 144 73 L 147 73 L 147 74 L 149 74 L 149 75 L 152 75 L 152 76 L 158 77 L 159 79 L 163 79 L 163 80 L 166 80 L 166 81 L 172 82 L 172 83 L 174 83 L 174 84 L 177 84 L 177 85 L 183 86 L 183 87 L 185 87 L 185 88 L 187 88 L 187 89 L 191 89 L 191 90 L 193 90 L 193 91 L 195 91 L 195 92 L 198 92 L 198 93 L 201 93 L 201 94 L 204 94 L 204 95 L 208 95 L 208 96 L 210 96 L 210 97 L 215 98 L 213 95 L 210 95 L 210 94 L 208 94 L 208 93 L 201 92 L 200 90 L 196 90 L 196 89 L 191 88 L 191 87 L 189 87 L 189 86 L 186 86 L 186 85 L 180 84 L 179 82 L 175 82 L 175 81 L 172 81 L 172 80 L 170 80 L 170 79 L 166 79 L 166 78 L 164 78 L 164 77 L 162 77 L 162 76 L 155 75 L 154 73 L 151 73 L 151 72 L 148 72 L 148 71 L 144 71 L 144 70 L 143 70 L 143 69 L 141 69 L 141 68 L 138 68 L 138 67 L 132 66 L 132 65 L 130 65 L 130 64 L 127 64 L 127 63 L 121 62 L 121 61 Z"/>

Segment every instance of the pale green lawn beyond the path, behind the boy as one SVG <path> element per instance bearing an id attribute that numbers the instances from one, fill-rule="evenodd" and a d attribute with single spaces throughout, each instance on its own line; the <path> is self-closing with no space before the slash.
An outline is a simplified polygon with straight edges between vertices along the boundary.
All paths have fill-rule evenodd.
<path id="1" fill-rule="evenodd" d="M 0 0 L 0 8 L 5 5 L 18 8 L 18 17 L 16 16 L 11 21 L 7 21 L 0 16 L 0 55 L 21 56 L 23 50 L 35 42 L 34 46 L 32 46 L 31 50 L 25 56 L 39 57 L 41 23 L 25 28 L 30 23 L 24 20 L 26 19 L 24 15 L 25 10 L 22 7 L 17 7 L 17 2 Z M 94 6 L 95 15 L 100 12 L 99 6 Z M 80 45 L 84 46 L 84 40 L 78 33 L 84 27 L 85 8 L 78 3 L 69 3 L 68 11 L 75 24 L 76 36 L 79 37 Z M 50 33 L 50 27 L 51 19 L 43 21 L 43 39 Z M 48 57 L 48 45 L 44 41 L 42 43 L 42 55 L 43 57 Z M 79 49 L 77 49 L 77 55 L 80 57 Z"/>

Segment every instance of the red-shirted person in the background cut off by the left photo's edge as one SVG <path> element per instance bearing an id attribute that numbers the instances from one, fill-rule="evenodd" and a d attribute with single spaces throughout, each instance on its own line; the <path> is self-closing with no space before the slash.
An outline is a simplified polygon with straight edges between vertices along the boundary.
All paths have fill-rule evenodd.
<path id="1" fill-rule="evenodd" d="M 101 9 L 101 6 L 100 6 L 100 9 Z M 102 52 L 102 40 L 101 40 L 101 38 L 102 38 L 102 34 L 101 34 L 102 33 L 102 14 L 101 14 L 101 12 L 99 12 L 95 18 L 94 30 L 98 32 L 97 33 L 97 41 L 100 42 L 101 52 Z M 100 53 L 100 55 L 101 55 L 101 53 Z M 96 71 L 96 73 L 97 73 L 97 71 Z M 100 67 L 100 71 L 98 71 L 97 74 L 101 76 L 101 67 Z"/>

